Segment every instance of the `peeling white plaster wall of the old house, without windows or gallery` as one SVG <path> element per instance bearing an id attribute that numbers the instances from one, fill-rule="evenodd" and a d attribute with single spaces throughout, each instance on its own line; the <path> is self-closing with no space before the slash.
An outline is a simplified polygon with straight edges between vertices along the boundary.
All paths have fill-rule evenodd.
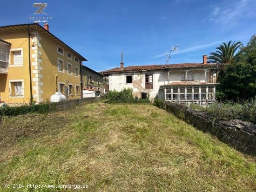
<path id="1" fill-rule="evenodd" d="M 153 100 L 156 95 L 162 97 L 163 92 L 159 88 L 162 85 L 166 85 L 171 82 L 181 81 L 181 74 L 184 71 L 170 71 L 169 82 L 168 72 L 165 71 L 148 71 L 145 73 L 133 72 L 133 73 L 113 73 L 108 77 L 109 90 L 121 91 L 124 88 L 132 88 L 133 95 L 141 97 L 141 92 L 148 93 L 149 99 Z M 204 70 L 190 70 L 194 73 L 194 80 L 204 82 L 205 71 Z M 153 89 L 145 89 L 145 74 L 153 74 Z M 126 83 L 126 76 L 132 75 L 132 83 Z"/>

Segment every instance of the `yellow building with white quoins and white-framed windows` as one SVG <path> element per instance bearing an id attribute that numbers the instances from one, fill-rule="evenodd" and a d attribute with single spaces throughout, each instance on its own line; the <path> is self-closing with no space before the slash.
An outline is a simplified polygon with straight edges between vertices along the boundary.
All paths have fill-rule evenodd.
<path id="1" fill-rule="evenodd" d="M 45 102 L 55 92 L 81 98 L 82 61 L 48 24 L 0 26 L 0 101 Z"/>

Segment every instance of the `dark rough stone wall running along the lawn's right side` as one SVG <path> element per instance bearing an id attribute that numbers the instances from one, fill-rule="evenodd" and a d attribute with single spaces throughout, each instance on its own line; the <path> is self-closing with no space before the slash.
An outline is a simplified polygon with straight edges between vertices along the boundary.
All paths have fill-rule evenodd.
<path id="1" fill-rule="evenodd" d="M 164 108 L 185 122 L 203 132 L 215 135 L 222 142 L 236 150 L 256 155 L 256 125 L 239 119 L 213 122 L 207 112 L 196 111 L 187 106 L 173 102 L 164 102 Z"/>

